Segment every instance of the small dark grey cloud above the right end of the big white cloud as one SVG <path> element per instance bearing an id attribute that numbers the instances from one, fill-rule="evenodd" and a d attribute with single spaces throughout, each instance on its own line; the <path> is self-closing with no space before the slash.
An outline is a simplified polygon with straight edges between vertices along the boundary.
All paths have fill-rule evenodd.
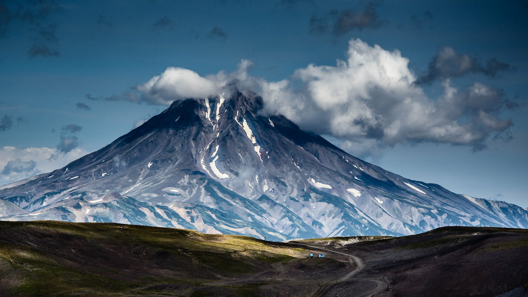
<path id="1" fill-rule="evenodd" d="M 495 77 L 498 71 L 515 70 L 510 64 L 489 59 L 482 63 L 477 58 L 467 54 L 459 54 L 447 45 L 441 47 L 435 57 L 429 62 L 428 70 L 417 80 L 417 83 L 429 83 L 436 79 L 447 79 L 466 75 L 467 73 L 482 73 Z"/>

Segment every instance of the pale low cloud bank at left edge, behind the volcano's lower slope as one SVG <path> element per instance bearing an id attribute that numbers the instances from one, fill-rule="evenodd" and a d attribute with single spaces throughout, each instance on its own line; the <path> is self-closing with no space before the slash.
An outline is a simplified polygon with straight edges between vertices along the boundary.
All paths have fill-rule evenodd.
<path id="1" fill-rule="evenodd" d="M 0 149 L 0 185 L 26 179 L 41 172 L 51 172 L 87 153 L 79 148 L 64 154 L 51 147 L 18 149 L 14 146 L 4 146 Z M 55 159 L 52 155 L 56 156 Z"/>

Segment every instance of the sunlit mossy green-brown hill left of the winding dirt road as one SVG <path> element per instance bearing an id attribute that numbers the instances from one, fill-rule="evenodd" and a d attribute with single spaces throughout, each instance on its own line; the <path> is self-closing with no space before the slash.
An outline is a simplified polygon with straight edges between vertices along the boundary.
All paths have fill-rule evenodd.
<path id="1" fill-rule="evenodd" d="M 320 272 L 350 266 L 332 258 L 306 259 L 309 253 L 291 244 L 195 230 L 0 221 L 0 295 L 199 296 L 223 291 L 249 296 L 270 278 L 295 277 L 310 284 L 310 276 L 320 281 Z M 215 285 L 249 278 L 256 284 Z"/>

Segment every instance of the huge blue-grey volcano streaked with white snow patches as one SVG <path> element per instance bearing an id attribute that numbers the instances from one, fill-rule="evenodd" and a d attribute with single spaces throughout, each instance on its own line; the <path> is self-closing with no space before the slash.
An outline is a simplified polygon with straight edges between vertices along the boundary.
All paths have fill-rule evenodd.
<path id="1" fill-rule="evenodd" d="M 261 98 L 186 99 L 64 168 L 0 187 L 2 220 L 120 222 L 266 237 L 528 228 L 528 211 L 353 157 Z"/>

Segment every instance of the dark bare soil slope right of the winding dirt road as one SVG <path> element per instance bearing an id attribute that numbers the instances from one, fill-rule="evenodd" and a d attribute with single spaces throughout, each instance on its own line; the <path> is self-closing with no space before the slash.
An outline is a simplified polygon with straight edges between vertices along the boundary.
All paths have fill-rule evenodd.
<path id="1" fill-rule="evenodd" d="M 496 296 L 528 284 L 528 230 L 444 227 L 348 247 L 363 277 L 386 277 L 377 296 Z"/>

